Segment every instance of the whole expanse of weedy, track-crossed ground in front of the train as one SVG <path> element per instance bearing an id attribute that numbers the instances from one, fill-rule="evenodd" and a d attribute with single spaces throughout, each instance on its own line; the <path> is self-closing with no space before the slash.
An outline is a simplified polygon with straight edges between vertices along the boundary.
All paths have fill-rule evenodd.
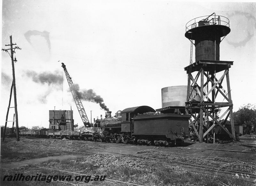
<path id="1" fill-rule="evenodd" d="M 115 146 L 116 149 L 111 148 Z M 63 157 L 63 154 L 72 154 L 73 158 L 55 158 L 48 159 L 43 162 L 34 162 L 30 166 L 24 166 L 14 169 L 14 171 L 21 172 L 27 175 L 44 174 L 44 175 L 72 175 L 85 174 L 85 175 L 106 175 L 107 179 L 119 180 L 128 183 L 135 183 L 139 185 L 173 185 L 173 186 L 190 186 L 190 185 L 221 185 L 225 183 L 227 185 L 253 185 L 252 182 L 246 182 L 241 179 L 235 179 L 229 176 L 223 175 L 210 175 L 205 174 L 204 171 L 201 173 L 193 172 L 192 170 L 186 169 L 181 166 L 171 166 L 167 164 L 159 163 L 159 161 L 166 163 L 190 163 L 203 166 L 210 166 L 218 168 L 220 166 L 229 164 L 228 168 L 237 168 L 239 170 L 246 170 L 246 164 L 240 160 L 228 160 L 221 159 L 218 157 L 194 157 L 188 155 L 181 155 L 179 153 L 196 153 L 204 155 L 222 155 L 225 156 L 226 152 L 203 150 L 204 148 L 216 148 L 219 149 L 235 149 L 242 150 L 244 147 L 238 146 L 238 144 L 189 144 L 183 147 L 156 147 L 154 146 L 140 146 L 140 145 L 125 145 L 122 144 L 110 144 L 100 142 L 85 142 L 85 141 L 69 141 L 69 140 L 58 140 L 58 139 L 37 139 L 37 138 L 22 138 L 20 142 L 16 142 L 14 138 L 7 138 L 6 142 L 1 143 L 1 162 L 30 160 L 39 157 L 49 157 L 53 155 L 55 157 Z M 118 149 L 119 148 L 119 149 Z M 4 149 L 4 150 L 3 150 Z M 113 154 L 102 154 L 100 152 L 95 155 L 83 155 L 75 153 L 67 153 L 64 151 L 71 152 L 83 152 L 92 149 L 98 150 L 116 150 L 120 152 L 122 149 L 127 149 L 132 155 L 113 155 Z M 136 150 L 135 150 L 136 149 Z M 144 150 L 139 150 L 144 149 Z M 95 150 L 93 150 L 95 152 Z M 122 152 L 125 150 L 122 150 Z M 234 156 L 236 158 L 242 157 L 242 159 L 250 159 L 251 154 L 233 155 L 236 153 L 226 153 L 226 157 Z M 140 157 L 136 157 L 140 156 Z M 160 160 L 152 160 L 143 158 L 142 156 L 157 158 Z M 152 162 L 154 161 L 154 162 Z M 235 163 L 235 164 L 234 164 Z M 255 163 L 251 164 L 255 166 Z M 54 168 L 57 170 L 49 170 L 39 168 L 36 166 Z M 233 166 L 233 167 L 232 167 Z M 224 167 L 225 168 L 225 167 Z M 63 170 L 73 172 L 67 173 L 62 172 Z M 14 174 L 12 170 L 1 170 L 1 175 Z M 1 180 L 0 185 L 12 185 L 10 182 L 3 182 Z M 24 185 L 45 185 L 42 182 L 23 182 Z M 84 185 L 84 182 L 75 182 L 78 185 Z M 51 182 L 51 185 L 59 186 L 58 182 Z M 65 185 L 65 184 L 64 184 Z M 89 182 L 86 185 L 111 185 L 119 186 L 124 185 L 123 183 L 99 181 Z"/>

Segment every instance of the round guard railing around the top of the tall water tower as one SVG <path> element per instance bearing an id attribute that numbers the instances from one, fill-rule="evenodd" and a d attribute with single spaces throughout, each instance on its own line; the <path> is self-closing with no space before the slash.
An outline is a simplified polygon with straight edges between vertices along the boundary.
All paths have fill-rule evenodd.
<path id="1" fill-rule="evenodd" d="M 223 26 L 229 27 L 228 18 L 224 16 L 215 15 L 215 13 L 213 13 L 212 15 L 209 15 L 209 16 L 201 16 L 188 21 L 188 23 L 186 24 L 186 32 L 192 28 L 198 27 L 199 21 L 206 21 L 204 25 L 223 25 Z"/>

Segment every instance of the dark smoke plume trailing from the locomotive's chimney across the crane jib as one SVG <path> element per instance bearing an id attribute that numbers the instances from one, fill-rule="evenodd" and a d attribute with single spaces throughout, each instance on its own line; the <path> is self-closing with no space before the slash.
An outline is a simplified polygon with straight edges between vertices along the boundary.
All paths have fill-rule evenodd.
<path id="1" fill-rule="evenodd" d="M 103 103 L 103 98 L 100 95 L 97 95 L 92 89 L 89 90 L 80 90 L 79 85 L 74 84 L 71 86 L 71 89 L 76 92 L 77 96 L 81 100 L 90 101 L 94 103 L 99 103 L 100 107 L 106 111 L 109 111 L 105 103 Z"/>

